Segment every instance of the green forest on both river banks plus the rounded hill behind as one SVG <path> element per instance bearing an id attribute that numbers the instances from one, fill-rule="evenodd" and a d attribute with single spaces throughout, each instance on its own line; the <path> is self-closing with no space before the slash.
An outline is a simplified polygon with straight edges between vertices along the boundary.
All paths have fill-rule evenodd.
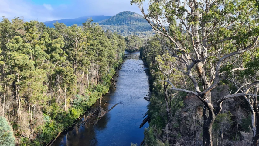
<path id="1" fill-rule="evenodd" d="M 125 50 L 139 50 L 151 92 L 140 145 L 257 146 L 259 2 L 144 1 L 131 0 L 142 16 L 100 25 L 4 17 L 0 145 L 49 144 L 109 92 Z"/>

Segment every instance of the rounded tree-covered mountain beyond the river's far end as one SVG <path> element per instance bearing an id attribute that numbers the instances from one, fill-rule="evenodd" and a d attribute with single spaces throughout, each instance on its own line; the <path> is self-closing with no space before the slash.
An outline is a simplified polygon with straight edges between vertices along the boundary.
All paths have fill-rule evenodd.
<path id="1" fill-rule="evenodd" d="M 118 32 L 123 36 L 134 34 L 151 36 L 154 34 L 151 26 L 143 16 L 130 11 L 120 12 L 98 23 L 104 30 Z"/>

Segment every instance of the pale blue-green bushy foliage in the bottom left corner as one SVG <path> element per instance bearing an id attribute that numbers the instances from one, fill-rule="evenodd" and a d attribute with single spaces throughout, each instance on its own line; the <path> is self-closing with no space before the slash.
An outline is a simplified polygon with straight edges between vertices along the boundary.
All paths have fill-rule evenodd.
<path id="1" fill-rule="evenodd" d="M 15 138 L 11 126 L 6 121 L 5 117 L 0 116 L 0 145 L 14 146 Z"/>

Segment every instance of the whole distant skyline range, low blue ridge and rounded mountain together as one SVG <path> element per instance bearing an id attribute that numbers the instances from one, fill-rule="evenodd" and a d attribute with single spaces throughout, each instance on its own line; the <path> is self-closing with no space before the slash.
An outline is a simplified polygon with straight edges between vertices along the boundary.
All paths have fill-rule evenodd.
<path id="1" fill-rule="evenodd" d="M 81 25 L 88 18 L 92 18 L 93 22 L 99 23 L 104 31 L 111 30 L 112 32 L 119 33 L 123 36 L 138 35 L 138 36 L 152 36 L 152 31 L 149 23 L 143 18 L 143 16 L 130 11 L 119 12 L 114 16 L 85 16 L 75 19 L 61 19 L 43 22 L 46 26 L 54 27 L 53 23 L 64 23 L 66 26 L 72 26 L 73 24 Z"/>

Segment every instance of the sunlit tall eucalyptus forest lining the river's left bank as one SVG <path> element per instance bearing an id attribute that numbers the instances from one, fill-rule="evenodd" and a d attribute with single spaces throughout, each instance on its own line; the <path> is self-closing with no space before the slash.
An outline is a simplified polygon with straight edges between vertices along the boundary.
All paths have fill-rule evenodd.
<path id="1" fill-rule="evenodd" d="M 109 90 L 124 37 L 82 26 L 0 22 L 0 145 L 48 144 Z M 1 131 L 4 130 L 4 131 Z"/>

